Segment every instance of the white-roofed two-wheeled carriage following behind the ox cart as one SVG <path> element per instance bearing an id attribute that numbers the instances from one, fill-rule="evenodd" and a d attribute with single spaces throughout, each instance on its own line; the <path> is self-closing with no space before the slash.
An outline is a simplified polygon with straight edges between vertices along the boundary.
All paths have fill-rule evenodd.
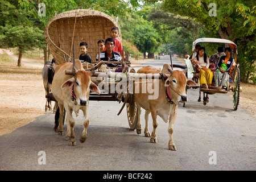
<path id="1" fill-rule="evenodd" d="M 200 83 L 200 73 L 199 73 L 199 67 L 198 67 L 198 57 L 199 55 L 199 50 L 197 49 L 196 51 L 196 47 L 197 45 L 200 45 L 201 43 L 214 43 L 215 45 L 219 45 L 222 44 L 222 46 L 226 46 L 226 47 L 231 47 L 226 48 L 227 49 L 227 53 L 229 54 L 230 60 L 228 60 L 228 62 L 224 63 L 225 61 L 225 54 L 224 57 L 218 57 L 217 61 L 215 64 L 212 65 L 212 68 L 210 69 L 212 72 L 210 74 L 212 74 L 212 77 L 210 77 L 210 84 L 208 84 L 209 88 L 205 88 L 205 86 L 203 84 Z M 230 51 L 231 50 L 231 51 Z M 204 49 L 205 51 L 205 49 Z M 239 97 L 240 97 L 240 92 L 242 91 L 242 88 L 240 87 L 240 69 L 239 69 L 239 64 L 238 64 L 238 60 L 237 60 L 237 46 L 236 44 L 234 44 L 232 41 L 230 40 L 226 40 L 226 39 L 216 39 L 216 38 L 200 38 L 200 39 L 196 39 L 195 42 L 193 42 L 192 45 L 192 56 L 190 57 L 190 59 L 185 59 L 185 63 L 188 67 L 189 72 L 193 73 L 193 77 L 192 80 L 195 81 L 197 83 L 197 86 L 193 86 L 194 89 L 199 88 L 199 102 L 201 101 L 201 92 L 203 92 L 204 97 L 203 97 L 203 104 L 206 105 L 207 102 L 209 102 L 209 97 L 208 94 L 215 94 L 215 93 L 221 93 L 221 94 L 226 94 L 228 93 L 230 90 L 233 92 L 233 108 L 234 110 L 237 110 L 238 108 L 238 104 L 239 104 Z M 197 57 L 196 57 L 197 55 Z M 222 59 L 221 59 L 222 58 Z M 218 77 L 216 77 L 215 75 L 217 75 L 214 72 L 219 71 L 220 72 L 220 68 L 226 67 L 227 63 L 229 64 L 229 68 L 226 68 L 226 75 L 228 75 L 228 77 L 224 78 L 224 76 L 222 77 L 221 80 L 214 80 L 217 79 Z M 201 68 L 203 69 L 203 68 Z M 202 71 L 202 72 L 207 72 L 207 71 Z M 221 69 L 221 73 L 224 73 L 224 71 L 222 71 Z M 214 74 L 214 77 L 213 77 Z M 224 74 L 223 74 L 224 75 Z M 222 76 L 222 74 L 221 74 Z M 224 84 L 224 79 L 226 79 L 226 84 Z M 221 85 L 225 85 L 222 86 Z"/>

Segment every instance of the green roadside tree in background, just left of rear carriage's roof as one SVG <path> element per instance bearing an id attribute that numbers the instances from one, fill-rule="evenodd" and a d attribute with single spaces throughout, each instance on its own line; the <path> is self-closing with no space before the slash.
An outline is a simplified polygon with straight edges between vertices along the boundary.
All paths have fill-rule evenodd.
<path id="1" fill-rule="evenodd" d="M 158 30 L 163 40 L 162 43 L 172 46 L 172 53 L 177 53 L 180 56 L 191 52 L 192 42 L 201 34 L 203 28 L 192 18 L 164 12 L 158 7 L 152 8 L 146 17 Z"/>

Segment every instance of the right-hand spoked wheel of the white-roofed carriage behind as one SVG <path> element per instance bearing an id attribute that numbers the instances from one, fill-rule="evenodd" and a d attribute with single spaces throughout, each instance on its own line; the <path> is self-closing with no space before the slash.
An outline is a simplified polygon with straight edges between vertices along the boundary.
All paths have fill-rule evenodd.
<path id="1" fill-rule="evenodd" d="M 236 69 L 234 73 L 234 85 L 233 85 L 233 107 L 234 110 L 237 110 L 239 104 L 239 96 L 240 96 L 240 70 Z"/>

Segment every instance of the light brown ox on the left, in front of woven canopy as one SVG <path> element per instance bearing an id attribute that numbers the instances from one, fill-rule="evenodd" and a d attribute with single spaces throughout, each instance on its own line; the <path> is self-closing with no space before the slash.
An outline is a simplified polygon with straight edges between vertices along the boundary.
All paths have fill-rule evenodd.
<path id="1" fill-rule="evenodd" d="M 89 104 L 90 90 L 100 94 L 100 89 L 90 80 L 90 73 L 84 71 L 80 60 L 75 61 L 76 74 L 75 76 L 65 75 L 65 70 L 72 70 L 73 63 L 63 63 L 56 67 L 55 75 L 52 81 L 52 94 L 58 102 L 59 109 L 55 114 L 55 128 L 54 130 L 63 134 L 63 117 L 64 112 L 67 112 L 67 140 L 69 143 L 76 144 L 74 133 L 75 119 L 72 117 L 72 112 L 75 111 L 76 116 L 79 110 L 84 113 L 84 131 L 80 135 L 80 142 L 85 142 L 87 138 L 87 129 L 89 125 L 89 118 L 87 107 Z M 73 92 L 73 94 L 72 94 Z M 74 95 L 74 96 L 73 96 Z M 75 100 L 72 100 L 72 97 Z M 76 104 L 77 102 L 77 104 Z M 65 110 L 64 110 L 65 109 Z"/>

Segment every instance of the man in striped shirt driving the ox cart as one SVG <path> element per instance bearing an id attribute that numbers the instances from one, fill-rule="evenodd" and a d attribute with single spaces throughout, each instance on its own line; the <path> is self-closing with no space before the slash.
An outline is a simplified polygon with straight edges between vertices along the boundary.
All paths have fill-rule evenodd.
<path id="1" fill-rule="evenodd" d="M 121 61 L 121 56 L 118 52 L 113 51 L 115 46 L 115 41 L 112 38 L 107 38 L 105 40 L 106 51 L 100 53 L 101 61 Z M 98 55 L 96 57 L 96 61 L 98 61 Z M 108 67 L 120 67 L 120 64 L 107 64 Z"/>

